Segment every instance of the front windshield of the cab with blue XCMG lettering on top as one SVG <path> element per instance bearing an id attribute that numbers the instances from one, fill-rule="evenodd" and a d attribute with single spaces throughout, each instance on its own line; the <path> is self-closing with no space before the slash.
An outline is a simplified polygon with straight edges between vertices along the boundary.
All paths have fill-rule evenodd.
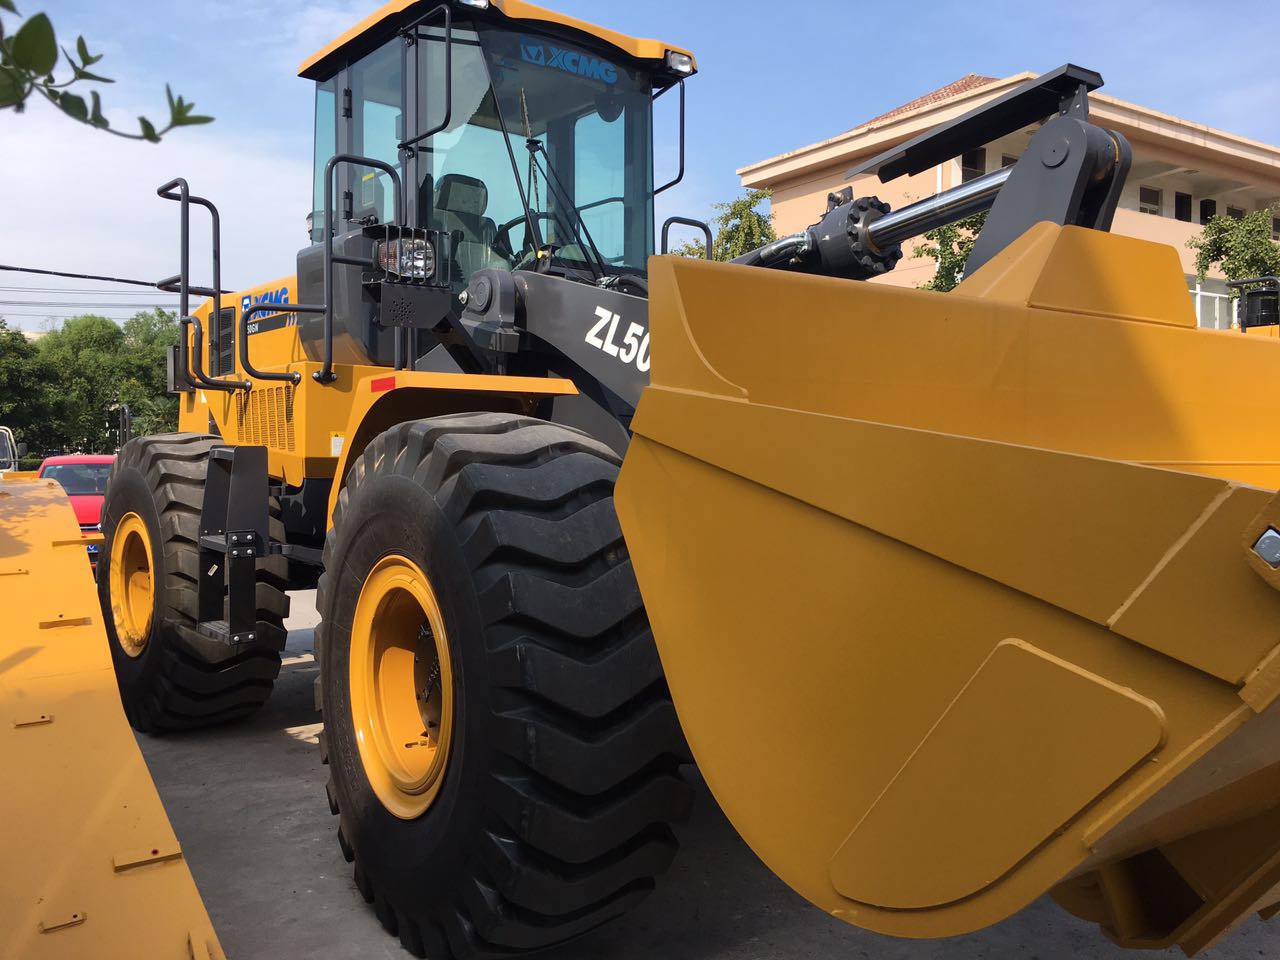
<path id="1" fill-rule="evenodd" d="M 444 116 L 444 56 L 443 35 L 424 40 L 426 131 Z M 456 24 L 451 123 L 420 160 L 424 220 L 454 237 L 456 279 L 527 268 L 548 244 L 567 266 L 644 274 L 652 84 L 643 70 L 572 44 Z"/>

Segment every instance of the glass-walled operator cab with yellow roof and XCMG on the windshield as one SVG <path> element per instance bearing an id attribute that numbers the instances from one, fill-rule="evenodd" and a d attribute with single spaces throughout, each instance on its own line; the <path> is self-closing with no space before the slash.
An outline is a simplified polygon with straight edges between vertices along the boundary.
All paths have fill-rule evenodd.
<path id="1" fill-rule="evenodd" d="M 323 302 L 324 180 L 337 155 L 396 170 L 402 225 L 436 232 L 435 276 L 454 314 L 481 269 L 644 288 L 654 252 L 653 101 L 692 73 L 692 58 L 654 41 L 630 41 L 639 49 L 628 52 L 543 13 L 511 0 L 410 5 L 375 14 L 364 33 L 303 65 L 316 79 L 316 137 L 302 301 Z M 369 256 L 367 228 L 401 223 L 394 178 L 357 163 L 333 174 L 335 251 Z M 358 274 L 335 268 L 335 358 L 389 364 L 396 334 L 360 296 Z M 300 323 L 312 353 L 319 320 Z M 413 352 L 430 340 L 419 333 Z"/>

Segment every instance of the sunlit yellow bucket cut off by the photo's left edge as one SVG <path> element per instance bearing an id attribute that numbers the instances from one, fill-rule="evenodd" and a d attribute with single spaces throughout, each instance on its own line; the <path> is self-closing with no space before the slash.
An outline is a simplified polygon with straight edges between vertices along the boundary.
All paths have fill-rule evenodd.
<path id="1" fill-rule="evenodd" d="M 84 540 L 0 479 L 0 956 L 225 960 L 124 719 Z"/>

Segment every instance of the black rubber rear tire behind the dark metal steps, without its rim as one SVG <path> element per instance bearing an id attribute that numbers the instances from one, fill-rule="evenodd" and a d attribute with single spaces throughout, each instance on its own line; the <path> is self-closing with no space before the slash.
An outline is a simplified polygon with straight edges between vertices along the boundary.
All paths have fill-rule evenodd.
<path id="1" fill-rule="evenodd" d="M 124 712 L 134 730 L 159 733 L 246 717 L 271 692 L 280 672 L 287 563 L 269 557 L 257 564 L 257 641 L 232 654 L 196 630 L 200 575 L 197 534 L 205 498 L 209 451 L 215 436 L 165 434 L 129 440 L 111 467 L 102 503 L 97 590 Z M 154 605 L 146 645 L 129 655 L 116 631 L 111 598 L 111 554 L 116 527 L 129 513 L 142 518 L 151 554 Z M 271 504 L 271 536 L 284 529 Z"/>

